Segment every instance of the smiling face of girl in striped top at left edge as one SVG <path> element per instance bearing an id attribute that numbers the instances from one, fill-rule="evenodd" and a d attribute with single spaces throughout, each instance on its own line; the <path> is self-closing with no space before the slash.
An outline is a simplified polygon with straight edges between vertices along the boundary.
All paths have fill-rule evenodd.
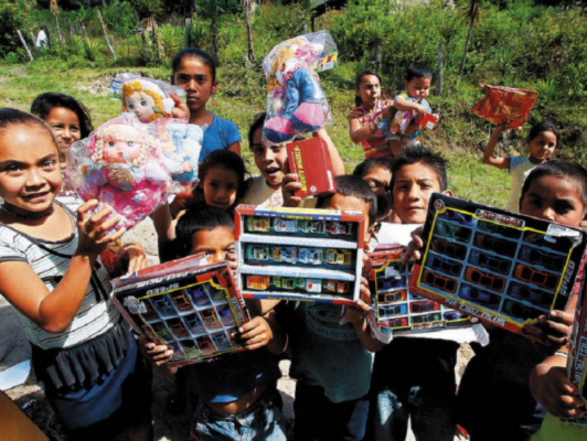
<path id="1" fill-rule="evenodd" d="M 49 208 L 61 188 L 58 150 L 45 128 L 13 124 L 0 135 L 0 197 L 26 212 Z"/>

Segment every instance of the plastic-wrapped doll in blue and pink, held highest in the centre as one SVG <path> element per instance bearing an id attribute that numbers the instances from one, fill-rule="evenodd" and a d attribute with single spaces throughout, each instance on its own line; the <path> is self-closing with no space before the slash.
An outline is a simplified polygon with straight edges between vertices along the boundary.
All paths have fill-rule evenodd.
<path id="1" fill-rule="evenodd" d="M 316 72 L 336 67 L 338 53 L 325 30 L 276 45 L 263 60 L 267 80 L 267 117 L 263 134 L 284 143 L 332 123 L 332 113 Z"/>

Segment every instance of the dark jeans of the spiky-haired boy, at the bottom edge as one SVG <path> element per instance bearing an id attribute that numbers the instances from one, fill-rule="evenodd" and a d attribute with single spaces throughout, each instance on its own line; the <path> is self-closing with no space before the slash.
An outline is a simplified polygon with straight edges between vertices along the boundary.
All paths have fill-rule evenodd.
<path id="1" fill-rule="evenodd" d="M 402 403 L 389 390 L 376 395 L 373 412 L 373 439 L 376 441 L 403 441 L 411 416 L 411 430 L 417 441 L 452 441 L 456 427 L 454 400 L 427 399 L 419 396 L 417 386 L 412 388 L 407 403 Z"/>

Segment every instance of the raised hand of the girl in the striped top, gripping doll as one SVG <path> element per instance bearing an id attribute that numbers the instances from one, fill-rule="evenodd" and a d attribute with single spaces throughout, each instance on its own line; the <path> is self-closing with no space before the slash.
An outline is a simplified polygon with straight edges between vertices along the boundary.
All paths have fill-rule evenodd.
<path id="1" fill-rule="evenodd" d="M 96 257 L 106 248 L 106 245 L 116 241 L 126 232 L 126 228 L 121 228 L 111 235 L 107 234 L 108 230 L 119 222 L 120 215 L 110 216 L 112 208 L 105 206 L 90 216 L 88 212 L 96 205 L 98 205 L 98 201 L 90 199 L 77 209 L 79 239 L 76 254 L 78 255 Z"/>

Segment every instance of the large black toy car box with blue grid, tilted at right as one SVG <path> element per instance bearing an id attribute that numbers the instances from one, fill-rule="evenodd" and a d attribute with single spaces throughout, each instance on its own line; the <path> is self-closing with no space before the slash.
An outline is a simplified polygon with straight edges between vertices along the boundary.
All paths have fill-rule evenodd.
<path id="1" fill-rule="evenodd" d="M 585 232 L 433 194 L 410 292 L 514 333 L 572 293 Z"/>

